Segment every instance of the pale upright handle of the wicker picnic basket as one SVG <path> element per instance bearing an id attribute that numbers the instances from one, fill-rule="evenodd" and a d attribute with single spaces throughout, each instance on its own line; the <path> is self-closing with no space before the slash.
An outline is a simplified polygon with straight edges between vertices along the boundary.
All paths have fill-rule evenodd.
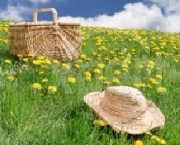
<path id="1" fill-rule="evenodd" d="M 53 23 L 57 24 L 58 23 L 58 14 L 56 9 L 54 8 L 42 8 L 42 9 L 35 9 L 33 13 L 33 22 L 37 23 L 37 16 L 39 12 L 52 12 L 53 15 Z"/>

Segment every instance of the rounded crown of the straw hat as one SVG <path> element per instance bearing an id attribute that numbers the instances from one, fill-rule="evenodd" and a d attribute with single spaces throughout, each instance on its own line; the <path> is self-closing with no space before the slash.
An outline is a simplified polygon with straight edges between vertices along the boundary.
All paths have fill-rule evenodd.
<path id="1" fill-rule="evenodd" d="M 135 88 L 128 86 L 112 86 L 105 91 L 103 106 L 115 112 L 136 113 L 147 109 L 146 99 Z"/>

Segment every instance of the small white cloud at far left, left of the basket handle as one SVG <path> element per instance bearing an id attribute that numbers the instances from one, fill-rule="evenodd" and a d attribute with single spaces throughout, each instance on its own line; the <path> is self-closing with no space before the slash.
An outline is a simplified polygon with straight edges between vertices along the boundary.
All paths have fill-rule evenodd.
<path id="1" fill-rule="evenodd" d="M 0 9 L 0 19 L 23 21 L 31 11 L 31 8 L 27 8 L 22 5 L 8 5 L 6 10 Z"/>

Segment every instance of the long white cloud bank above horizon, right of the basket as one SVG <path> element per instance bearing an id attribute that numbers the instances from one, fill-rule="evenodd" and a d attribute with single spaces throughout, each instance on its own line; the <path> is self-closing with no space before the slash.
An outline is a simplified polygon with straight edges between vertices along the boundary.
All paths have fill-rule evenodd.
<path id="1" fill-rule="evenodd" d="M 143 28 L 168 32 L 180 31 L 180 15 L 163 15 L 157 5 L 147 6 L 143 3 L 129 3 L 124 10 L 114 15 L 99 15 L 93 18 L 60 17 L 62 22 L 79 22 L 86 26 L 104 26 L 118 28 Z"/>

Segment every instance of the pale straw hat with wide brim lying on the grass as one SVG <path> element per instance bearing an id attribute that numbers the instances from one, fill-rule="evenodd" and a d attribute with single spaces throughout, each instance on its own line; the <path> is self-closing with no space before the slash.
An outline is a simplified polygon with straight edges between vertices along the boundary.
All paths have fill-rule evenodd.
<path id="1" fill-rule="evenodd" d="M 84 96 L 85 103 L 116 131 L 142 134 L 162 128 L 165 117 L 143 94 L 128 86 L 111 86 L 103 92 Z"/>

